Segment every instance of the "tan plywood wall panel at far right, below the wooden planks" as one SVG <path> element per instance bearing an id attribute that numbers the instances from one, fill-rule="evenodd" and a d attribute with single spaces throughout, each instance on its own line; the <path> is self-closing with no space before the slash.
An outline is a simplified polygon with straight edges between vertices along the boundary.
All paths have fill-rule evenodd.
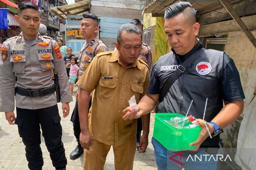
<path id="1" fill-rule="evenodd" d="M 256 31 L 252 31 L 256 37 Z M 245 94 L 245 108 L 255 97 L 256 49 L 242 31 L 229 32 L 225 52 L 234 60 Z"/>

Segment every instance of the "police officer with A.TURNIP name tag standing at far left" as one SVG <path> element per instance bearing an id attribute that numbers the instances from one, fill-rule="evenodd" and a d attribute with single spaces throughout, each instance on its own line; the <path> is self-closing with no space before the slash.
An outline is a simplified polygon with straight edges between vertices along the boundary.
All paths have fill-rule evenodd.
<path id="1" fill-rule="evenodd" d="M 9 124 L 18 125 L 29 169 L 42 169 L 44 164 L 40 147 L 41 125 L 53 166 L 64 170 L 67 159 L 61 142 L 61 118 L 54 93 L 52 69 L 59 76 L 63 117 L 69 114 L 68 103 L 72 101 L 72 95 L 60 48 L 56 41 L 37 32 L 40 14 L 35 4 L 21 2 L 15 18 L 19 21 L 22 32 L 18 37 L 5 41 L 1 48 L 0 112 L 5 112 Z M 14 97 L 16 118 L 13 113 Z"/>

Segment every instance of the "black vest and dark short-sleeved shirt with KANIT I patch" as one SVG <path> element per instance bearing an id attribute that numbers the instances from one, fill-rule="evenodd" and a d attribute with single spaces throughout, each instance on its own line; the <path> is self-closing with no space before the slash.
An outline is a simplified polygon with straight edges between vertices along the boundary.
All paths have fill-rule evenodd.
<path id="1" fill-rule="evenodd" d="M 153 67 L 146 93 L 160 94 L 160 89 L 168 77 L 177 70 L 196 50 L 202 48 L 200 41 L 186 55 L 179 56 L 175 51 L 163 55 Z M 213 49 L 204 51 L 173 83 L 156 107 L 156 113 L 180 113 L 186 115 L 191 100 L 194 100 L 189 115 L 203 118 L 206 98 L 208 103 L 205 121 L 211 121 L 222 109 L 223 100 L 236 101 L 244 99 L 239 73 L 233 60 L 225 53 Z M 217 146 L 219 135 L 207 138 L 202 145 Z"/>

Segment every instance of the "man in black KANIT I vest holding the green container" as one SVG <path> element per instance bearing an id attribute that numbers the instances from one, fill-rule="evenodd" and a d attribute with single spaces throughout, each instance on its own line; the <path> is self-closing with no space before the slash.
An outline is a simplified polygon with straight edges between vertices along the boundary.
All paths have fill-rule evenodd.
<path id="1" fill-rule="evenodd" d="M 206 127 L 203 126 L 198 139 L 190 144 L 195 146 L 193 152 L 184 151 L 182 154 L 184 159 L 179 160 L 179 157 L 175 157 L 177 161 L 169 160 L 169 157 L 178 152 L 168 151 L 154 138 L 152 138 L 152 144 L 158 169 L 216 170 L 217 160 L 209 160 L 208 157 L 207 160 L 194 161 L 188 158 L 189 155 L 200 158 L 200 155 L 216 154 L 220 147 L 220 129 L 234 122 L 243 112 L 245 97 L 239 73 L 228 55 L 217 50 L 205 50 L 201 42 L 196 39 L 200 24 L 196 22 L 196 11 L 190 3 L 178 2 L 169 6 L 164 18 L 164 29 L 172 52 L 161 56 L 154 65 L 146 95 L 138 104 L 139 110 L 132 112 L 127 107 L 123 111 L 123 119 L 134 119 L 148 114 L 157 102 L 159 104 L 156 107 L 156 113 L 185 115 L 191 100 L 194 100 L 194 103 L 189 113 L 195 118 L 203 119 L 205 101 L 208 98 L 204 120 L 210 122 L 208 127 L 213 136 L 212 139 Z M 188 66 L 180 67 L 191 57 L 195 59 Z M 163 100 L 160 100 L 165 82 L 172 73 L 176 74 L 179 71 L 182 74 L 167 89 Z"/>

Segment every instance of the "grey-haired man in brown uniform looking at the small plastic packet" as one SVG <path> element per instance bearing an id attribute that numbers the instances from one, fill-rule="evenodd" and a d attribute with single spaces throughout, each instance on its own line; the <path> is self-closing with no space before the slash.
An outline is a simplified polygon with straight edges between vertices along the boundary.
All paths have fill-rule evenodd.
<path id="1" fill-rule="evenodd" d="M 137 121 L 122 119 L 122 109 L 135 95 L 140 100 L 148 87 L 148 66 L 138 59 L 142 34 L 133 24 L 124 24 L 117 33 L 117 50 L 96 55 L 77 84 L 81 126 L 80 142 L 84 152 L 84 170 L 103 170 L 113 146 L 116 170 L 131 170 L 136 151 Z M 88 105 L 93 91 L 92 107 Z M 82 102 L 83 101 L 83 102 Z M 88 120 L 89 119 L 89 120 Z M 149 117 L 143 117 L 144 131 L 140 151 L 148 146 Z"/>

